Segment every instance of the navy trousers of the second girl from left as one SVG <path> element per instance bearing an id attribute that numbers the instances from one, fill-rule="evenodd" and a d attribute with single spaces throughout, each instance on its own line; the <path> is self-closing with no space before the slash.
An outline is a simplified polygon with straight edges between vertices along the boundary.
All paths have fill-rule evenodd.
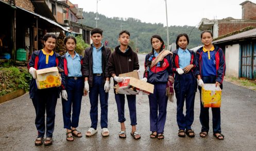
<path id="1" fill-rule="evenodd" d="M 83 79 L 67 79 L 66 92 L 67 101 L 62 101 L 62 113 L 64 128 L 71 130 L 71 127 L 78 127 L 79 116 L 81 111 L 81 101 L 83 96 Z M 72 120 L 71 120 L 72 111 Z"/>

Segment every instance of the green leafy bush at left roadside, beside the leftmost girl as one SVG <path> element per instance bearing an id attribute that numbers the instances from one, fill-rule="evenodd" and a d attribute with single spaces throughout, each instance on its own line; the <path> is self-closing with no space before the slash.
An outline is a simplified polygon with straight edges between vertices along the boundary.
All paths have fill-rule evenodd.
<path id="1" fill-rule="evenodd" d="M 29 90 L 31 75 L 25 68 L 1 68 L 0 74 L 0 96 L 23 89 Z"/>

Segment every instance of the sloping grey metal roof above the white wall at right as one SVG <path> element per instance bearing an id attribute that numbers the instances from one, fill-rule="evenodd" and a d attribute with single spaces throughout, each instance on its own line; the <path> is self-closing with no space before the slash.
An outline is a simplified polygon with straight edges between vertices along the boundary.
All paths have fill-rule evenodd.
<path id="1" fill-rule="evenodd" d="M 232 36 L 218 39 L 218 40 L 213 41 L 213 43 L 219 44 L 219 43 L 223 43 L 223 42 L 227 42 L 227 41 L 231 41 L 231 40 L 239 40 L 239 39 L 249 38 L 249 37 L 256 37 L 256 29 L 248 30 L 248 31 L 245 31 L 242 33 L 232 35 Z"/>

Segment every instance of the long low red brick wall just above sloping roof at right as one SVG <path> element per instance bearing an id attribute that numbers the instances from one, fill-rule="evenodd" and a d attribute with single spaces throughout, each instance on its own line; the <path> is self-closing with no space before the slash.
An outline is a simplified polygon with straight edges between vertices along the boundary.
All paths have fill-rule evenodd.
<path id="1" fill-rule="evenodd" d="M 218 24 L 218 37 L 226 35 L 228 33 L 241 30 L 248 26 L 256 27 L 256 21 L 253 23 L 252 21 L 230 21 L 229 23 L 219 23 Z"/>

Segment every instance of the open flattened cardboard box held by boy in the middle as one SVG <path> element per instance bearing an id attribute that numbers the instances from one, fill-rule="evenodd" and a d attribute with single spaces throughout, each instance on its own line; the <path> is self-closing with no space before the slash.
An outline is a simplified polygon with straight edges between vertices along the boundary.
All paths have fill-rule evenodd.
<path id="1" fill-rule="evenodd" d="M 134 77 L 126 77 L 122 82 L 115 85 L 116 94 L 139 94 L 140 91 L 153 93 L 154 85 Z"/>

